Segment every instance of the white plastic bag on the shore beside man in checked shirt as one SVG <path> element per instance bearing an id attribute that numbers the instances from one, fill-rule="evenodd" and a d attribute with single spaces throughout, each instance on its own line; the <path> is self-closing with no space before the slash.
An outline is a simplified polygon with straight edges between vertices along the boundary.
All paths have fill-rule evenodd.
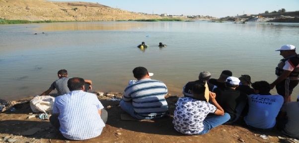
<path id="1" fill-rule="evenodd" d="M 53 110 L 53 105 L 55 102 L 55 97 L 46 96 L 35 96 L 30 101 L 30 107 L 33 112 L 44 112 Z"/>

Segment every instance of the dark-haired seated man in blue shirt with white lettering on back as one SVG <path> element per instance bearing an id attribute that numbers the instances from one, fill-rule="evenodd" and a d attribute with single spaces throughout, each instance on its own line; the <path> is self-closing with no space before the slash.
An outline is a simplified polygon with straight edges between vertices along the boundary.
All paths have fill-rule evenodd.
<path id="1" fill-rule="evenodd" d="M 249 127 L 256 129 L 273 129 L 276 117 L 283 106 L 281 95 L 271 95 L 270 84 L 267 81 L 256 81 L 252 84 L 255 94 L 248 96 L 249 111 L 244 117 Z"/>

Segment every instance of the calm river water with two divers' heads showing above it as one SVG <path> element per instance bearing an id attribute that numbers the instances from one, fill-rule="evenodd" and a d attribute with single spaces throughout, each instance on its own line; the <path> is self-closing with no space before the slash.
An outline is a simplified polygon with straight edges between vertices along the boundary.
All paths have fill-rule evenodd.
<path id="1" fill-rule="evenodd" d="M 42 34 L 44 32 L 45 34 Z M 37 33 L 37 35 L 34 35 Z M 141 42 L 149 45 L 139 49 Z M 162 42 L 167 47 L 159 48 Z M 135 67 L 146 67 L 172 95 L 200 71 L 218 78 L 249 74 L 276 79 L 281 46 L 299 46 L 299 23 L 71 22 L 0 25 L 0 99 L 40 95 L 66 69 L 92 80 L 93 90 L 123 92 Z M 52 91 L 52 93 L 55 93 Z M 276 90 L 271 90 L 276 94 Z M 297 86 L 292 95 L 299 93 Z"/>

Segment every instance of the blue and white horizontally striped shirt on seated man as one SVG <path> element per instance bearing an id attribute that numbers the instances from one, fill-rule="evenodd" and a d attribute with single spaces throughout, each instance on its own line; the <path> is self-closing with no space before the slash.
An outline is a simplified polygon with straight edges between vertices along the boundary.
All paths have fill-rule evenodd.
<path id="1" fill-rule="evenodd" d="M 134 110 L 139 115 L 149 116 L 152 113 L 160 115 L 168 110 L 164 97 L 167 92 L 163 82 L 143 78 L 126 87 L 123 100 L 133 100 Z"/>

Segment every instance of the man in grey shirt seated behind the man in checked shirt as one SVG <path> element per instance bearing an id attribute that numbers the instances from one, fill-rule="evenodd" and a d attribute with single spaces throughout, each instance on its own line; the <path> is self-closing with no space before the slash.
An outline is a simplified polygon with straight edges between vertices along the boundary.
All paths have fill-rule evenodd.
<path id="1" fill-rule="evenodd" d="M 45 91 L 44 93 L 42 93 L 41 95 L 49 95 L 50 92 L 52 90 L 54 90 L 55 88 L 57 89 L 57 95 L 64 95 L 70 92 L 69 88 L 68 88 L 68 80 L 72 77 L 68 77 L 68 71 L 67 70 L 60 70 L 58 71 L 58 78 L 56 81 L 54 81 L 50 88 Z M 85 86 L 85 92 L 89 89 L 91 90 L 92 81 L 91 80 L 87 80 L 84 79 L 84 86 Z M 51 95 L 53 96 L 53 95 Z"/>

